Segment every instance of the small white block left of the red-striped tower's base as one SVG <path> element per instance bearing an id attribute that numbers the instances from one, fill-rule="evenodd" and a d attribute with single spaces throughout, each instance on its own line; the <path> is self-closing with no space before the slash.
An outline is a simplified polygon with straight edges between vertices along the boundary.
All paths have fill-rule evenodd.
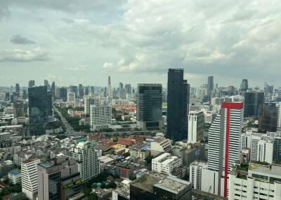
<path id="1" fill-rule="evenodd" d="M 206 162 L 192 162 L 190 164 L 189 181 L 192 184 L 192 188 L 202 190 L 202 169 L 207 169 Z"/>

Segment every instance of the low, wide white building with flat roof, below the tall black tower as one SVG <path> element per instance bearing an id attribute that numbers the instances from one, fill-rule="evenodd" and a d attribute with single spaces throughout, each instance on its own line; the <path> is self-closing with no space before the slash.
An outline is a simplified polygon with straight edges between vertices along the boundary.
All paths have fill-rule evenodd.
<path id="1" fill-rule="evenodd" d="M 152 159 L 152 171 L 171 175 L 174 169 L 183 166 L 183 159 L 164 153 Z"/>

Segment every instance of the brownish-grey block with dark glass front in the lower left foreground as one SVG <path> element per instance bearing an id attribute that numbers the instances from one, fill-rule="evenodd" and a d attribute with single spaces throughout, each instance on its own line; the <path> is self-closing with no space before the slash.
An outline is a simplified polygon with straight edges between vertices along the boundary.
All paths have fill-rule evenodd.
<path id="1" fill-rule="evenodd" d="M 39 163 L 37 168 L 38 199 L 67 200 L 81 193 L 82 181 L 74 159 L 61 154 Z"/>

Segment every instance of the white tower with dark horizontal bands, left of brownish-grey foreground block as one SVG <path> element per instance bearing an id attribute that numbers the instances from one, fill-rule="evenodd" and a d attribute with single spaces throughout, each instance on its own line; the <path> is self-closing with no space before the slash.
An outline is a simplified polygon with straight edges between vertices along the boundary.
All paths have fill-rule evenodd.
<path id="1" fill-rule="evenodd" d="M 21 164 L 22 193 L 30 200 L 36 199 L 38 195 L 37 164 L 40 159 L 27 159 Z"/>

